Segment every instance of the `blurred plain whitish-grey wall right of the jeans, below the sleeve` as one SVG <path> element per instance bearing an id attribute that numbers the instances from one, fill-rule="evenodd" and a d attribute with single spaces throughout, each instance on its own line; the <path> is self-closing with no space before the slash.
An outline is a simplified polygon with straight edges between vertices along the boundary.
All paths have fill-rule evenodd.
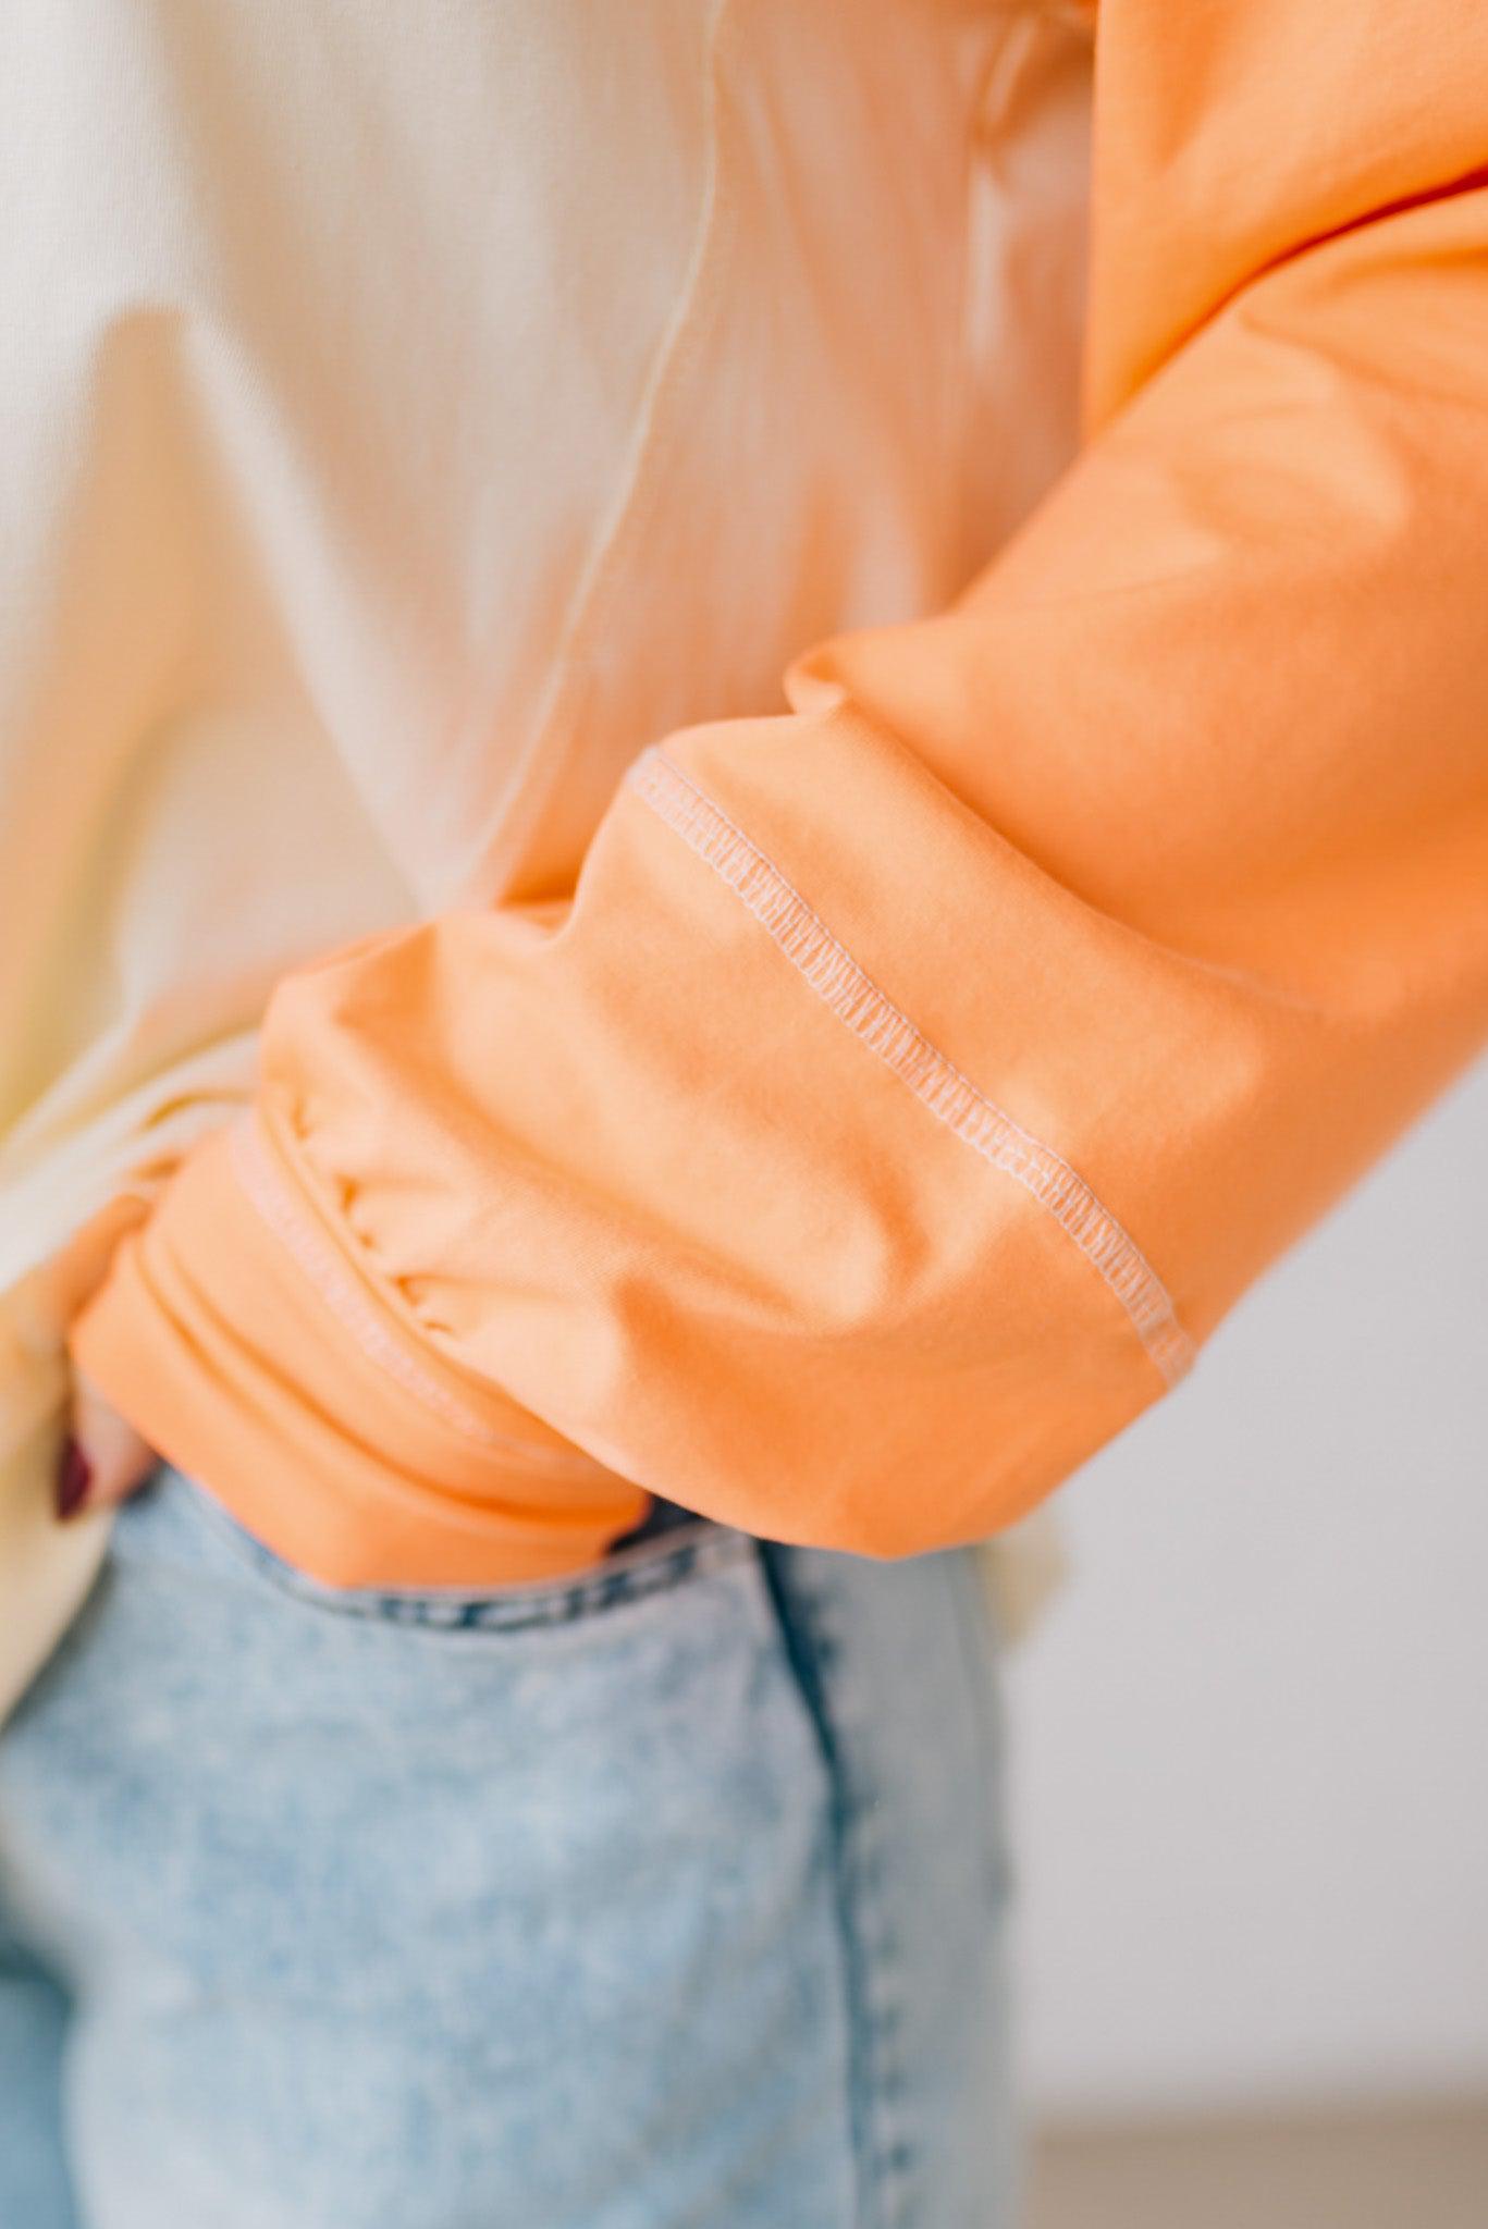
<path id="1" fill-rule="evenodd" d="M 1008 1670 L 1035 2106 L 1488 2089 L 1488 1068 L 1062 1507 Z"/>

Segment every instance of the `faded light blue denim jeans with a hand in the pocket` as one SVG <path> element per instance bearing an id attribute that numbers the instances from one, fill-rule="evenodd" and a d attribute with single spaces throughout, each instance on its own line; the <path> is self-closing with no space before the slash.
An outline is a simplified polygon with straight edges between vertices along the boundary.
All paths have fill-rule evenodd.
<path id="1" fill-rule="evenodd" d="M 986 1616 L 680 1511 L 337 1594 L 163 1469 L 0 1739 L 2 2229 L 1006 2229 Z"/>

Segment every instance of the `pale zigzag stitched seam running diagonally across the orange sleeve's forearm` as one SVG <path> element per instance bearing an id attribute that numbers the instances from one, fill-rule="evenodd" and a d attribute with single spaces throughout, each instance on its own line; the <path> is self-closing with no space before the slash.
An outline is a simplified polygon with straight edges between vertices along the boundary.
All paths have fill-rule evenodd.
<path id="1" fill-rule="evenodd" d="M 1020 1128 L 915 1028 L 796 885 L 665 751 L 642 751 L 627 782 L 729 885 L 817 996 L 908 1083 L 937 1121 L 1049 1210 L 1115 1293 L 1162 1378 L 1176 1384 L 1194 1362 L 1194 1342 L 1151 1262 L 1084 1177 Z"/>

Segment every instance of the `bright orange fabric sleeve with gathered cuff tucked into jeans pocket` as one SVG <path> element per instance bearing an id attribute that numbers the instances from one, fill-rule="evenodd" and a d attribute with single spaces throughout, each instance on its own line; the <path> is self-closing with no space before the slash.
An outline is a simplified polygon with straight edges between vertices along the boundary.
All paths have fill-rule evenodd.
<path id="1" fill-rule="evenodd" d="M 1470 0 L 1109 0 L 1084 455 L 558 925 L 283 983 L 74 1328 L 165 1453 L 326 1578 L 892 1556 L 1185 1373 L 1488 1030 L 1484 85 Z"/>

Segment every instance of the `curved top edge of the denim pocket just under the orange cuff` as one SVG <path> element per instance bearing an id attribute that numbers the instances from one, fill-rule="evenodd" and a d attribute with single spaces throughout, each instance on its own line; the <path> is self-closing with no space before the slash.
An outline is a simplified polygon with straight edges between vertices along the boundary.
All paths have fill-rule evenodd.
<path id="1" fill-rule="evenodd" d="M 270 1549 L 207 1487 L 172 1464 L 145 1489 L 145 1500 L 156 1502 L 156 1516 L 167 1522 L 181 1518 L 205 1536 L 219 1560 L 228 1558 L 250 1580 L 306 1609 L 419 1634 L 497 1636 L 571 1627 L 654 1600 L 754 1549 L 747 1534 L 667 1502 L 600 1563 L 564 1578 L 480 1587 L 335 1587 Z"/>

